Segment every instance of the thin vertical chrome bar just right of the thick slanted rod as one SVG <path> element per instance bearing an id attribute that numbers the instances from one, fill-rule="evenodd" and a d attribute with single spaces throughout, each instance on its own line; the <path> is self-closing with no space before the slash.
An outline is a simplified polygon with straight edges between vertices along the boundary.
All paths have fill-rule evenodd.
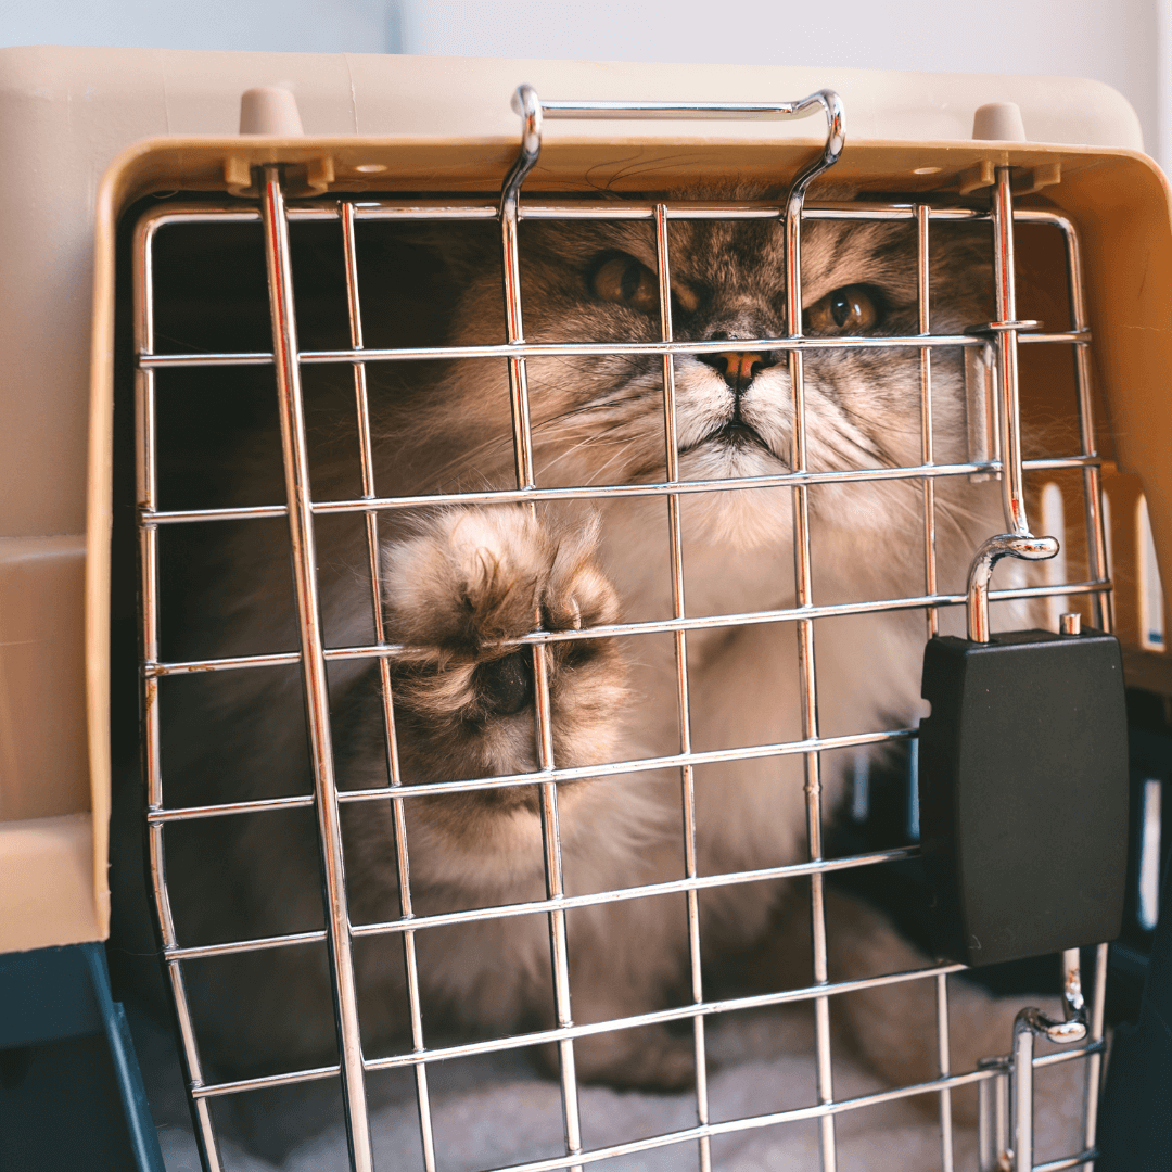
<path id="1" fill-rule="evenodd" d="M 362 349 L 362 302 L 359 297 L 357 248 L 354 241 L 354 205 L 340 205 L 342 220 L 342 253 L 346 261 L 346 300 L 350 326 L 350 346 Z M 354 407 L 359 430 L 359 458 L 362 464 L 362 496 L 376 498 L 374 484 L 374 448 L 370 438 L 370 403 L 367 394 L 366 364 L 354 366 Z M 382 616 L 382 568 L 380 565 L 379 513 L 366 513 L 367 563 L 370 572 L 370 611 L 375 639 L 383 643 L 387 633 Z M 387 775 L 390 785 L 403 784 L 398 766 L 398 738 L 395 735 L 395 708 L 390 687 L 390 660 L 379 660 L 379 689 L 382 696 L 382 723 L 386 735 Z M 402 802 L 390 803 L 395 833 L 395 865 L 398 875 L 398 911 L 404 921 L 414 917 L 411 900 L 411 866 L 407 851 L 407 817 Z M 322 933 L 323 935 L 323 933 Z M 415 931 L 406 928 L 403 938 L 403 968 L 407 974 L 407 1003 L 411 1021 L 411 1047 L 416 1052 L 425 1049 L 423 1041 L 423 1004 L 420 995 L 420 963 L 415 950 Z M 415 1064 L 415 1103 L 420 1118 L 420 1143 L 423 1150 L 424 1172 L 435 1172 L 435 1133 L 431 1124 L 431 1096 L 428 1089 L 428 1069 Z"/>

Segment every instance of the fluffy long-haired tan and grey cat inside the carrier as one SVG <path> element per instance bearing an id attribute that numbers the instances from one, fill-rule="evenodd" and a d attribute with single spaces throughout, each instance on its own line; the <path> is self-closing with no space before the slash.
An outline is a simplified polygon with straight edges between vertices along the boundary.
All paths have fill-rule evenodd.
<path id="1" fill-rule="evenodd" d="M 689 193 L 693 198 L 695 193 Z M 710 195 L 710 193 L 709 193 Z M 738 193 L 743 197 L 743 193 Z M 421 236 L 456 289 L 443 331 L 457 345 L 503 338 L 498 244 Z M 992 315 L 987 227 L 949 226 L 931 252 L 932 328 L 959 334 Z M 803 227 L 803 326 L 812 336 L 919 331 L 915 236 L 909 223 L 811 220 Z M 647 223 L 525 222 L 520 232 L 525 336 L 532 342 L 660 338 L 654 238 Z M 673 220 L 674 336 L 727 342 L 718 354 L 676 354 L 679 476 L 683 482 L 790 471 L 793 425 L 784 352 L 745 340 L 786 333 L 781 220 Z M 368 306 L 369 309 L 369 306 Z M 394 369 L 387 369 L 387 367 Z M 516 486 L 507 373 L 499 359 L 386 364 L 373 393 L 380 496 Z M 812 471 L 918 465 L 920 353 L 818 349 L 805 355 L 805 429 Z M 662 360 L 601 354 L 527 364 L 533 463 L 543 488 L 639 484 L 666 475 Z M 377 390 L 377 388 L 376 388 Z M 968 459 L 965 363 L 932 352 L 935 459 Z M 315 499 L 354 496 L 353 454 L 327 435 Z M 278 479 L 241 459 L 248 503 L 278 497 Z M 999 532 L 999 485 L 935 481 L 940 590 L 963 588 L 977 545 Z M 924 579 L 924 498 L 914 479 L 822 483 L 809 490 L 812 598 L 819 605 L 917 597 Z M 679 498 L 688 615 L 795 606 L 793 493 L 788 486 Z M 319 517 L 322 612 L 331 646 L 373 640 L 361 518 Z M 662 497 L 449 504 L 381 517 L 377 553 L 391 657 L 397 758 L 408 786 L 534 770 L 532 650 L 509 646 L 540 622 L 572 632 L 670 619 L 668 506 Z M 267 526 L 267 527 L 265 527 Z M 200 570 L 203 620 L 182 625 L 171 657 L 292 649 L 284 518 L 223 527 Z M 210 526 L 214 527 L 214 526 Z M 223 536 L 229 533 L 229 536 Z M 1004 604 L 1028 625 L 1027 604 Z M 941 609 L 941 629 L 963 616 Z M 922 609 L 823 618 L 813 625 L 823 736 L 914 724 L 921 711 Z M 502 646 L 502 643 L 505 646 Z M 591 777 L 591 766 L 681 749 L 670 634 L 609 635 L 548 645 L 553 762 L 580 769 L 558 785 L 565 890 L 571 897 L 684 875 L 677 768 Z M 792 621 L 690 631 L 687 663 L 693 749 L 800 741 L 802 697 Z M 163 744 L 169 804 L 308 792 L 300 677 L 294 669 L 166 681 Z M 189 702 L 179 694 L 186 688 Z M 387 784 L 380 667 L 331 666 L 340 786 Z M 166 691 L 166 689 L 164 689 Z M 822 755 L 820 802 L 841 805 L 849 755 Z M 800 755 L 695 766 L 700 875 L 805 861 L 806 778 Z M 403 799 L 416 915 L 541 900 L 546 894 L 537 786 Z M 349 909 L 355 924 L 400 915 L 389 800 L 342 805 Z M 168 875 L 180 942 L 307 931 L 321 921 L 312 811 L 210 819 L 168 830 Z M 605 1022 L 686 1004 L 689 933 L 679 892 L 567 913 L 572 1011 Z M 736 883 L 700 893 L 706 973 L 768 955 L 771 988 L 811 983 L 809 881 Z M 931 960 L 883 917 L 827 898 L 832 980 L 924 967 Z M 765 942 L 764 945 L 762 942 Z M 415 935 L 423 1022 L 444 1033 L 502 1036 L 557 1023 L 550 929 L 543 912 L 427 927 Z M 367 1056 L 402 1052 L 410 1022 L 400 936 L 354 945 Z M 764 949 L 764 952 L 762 952 Z M 759 969 L 759 965 L 757 968 Z M 198 972 L 197 972 L 198 969 Z M 320 1065 L 335 1057 L 329 977 L 320 943 L 229 955 L 188 966 L 197 1034 L 213 1077 Z M 954 1069 L 1008 1044 L 1016 1004 L 958 990 Z M 888 1078 L 939 1072 L 928 983 L 832 999 L 836 1024 Z M 574 1043 L 578 1077 L 618 1086 L 690 1085 L 690 1038 L 663 1026 L 612 1030 Z M 543 1059 L 557 1067 L 552 1047 Z"/>

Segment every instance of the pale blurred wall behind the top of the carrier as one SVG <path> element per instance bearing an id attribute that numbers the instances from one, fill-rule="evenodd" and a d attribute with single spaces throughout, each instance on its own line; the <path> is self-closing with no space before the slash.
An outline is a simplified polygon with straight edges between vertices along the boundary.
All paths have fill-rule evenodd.
<path id="1" fill-rule="evenodd" d="M 1172 0 L 0 0 L 0 45 L 1067 74 L 1172 165 Z"/>

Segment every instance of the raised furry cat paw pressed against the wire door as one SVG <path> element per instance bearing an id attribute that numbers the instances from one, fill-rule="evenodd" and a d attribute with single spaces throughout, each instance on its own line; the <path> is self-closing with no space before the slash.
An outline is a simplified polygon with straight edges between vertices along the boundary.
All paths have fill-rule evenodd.
<path id="1" fill-rule="evenodd" d="M 440 772 L 536 768 L 533 647 L 509 641 L 618 620 L 597 547 L 597 518 L 571 529 L 489 506 L 438 512 L 384 550 L 388 639 L 411 648 L 395 669 L 396 708 L 428 755 L 441 754 Z M 615 641 L 559 641 L 543 654 L 557 763 L 606 759 L 626 696 Z"/>

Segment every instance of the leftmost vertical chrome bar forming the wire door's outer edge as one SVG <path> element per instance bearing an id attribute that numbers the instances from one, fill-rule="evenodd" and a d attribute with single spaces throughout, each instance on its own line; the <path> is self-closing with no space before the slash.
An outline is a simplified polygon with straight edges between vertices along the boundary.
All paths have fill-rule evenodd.
<path id="1" fill-rule="evenodd" d="M 150 353 L 155 348 L 155 252 L 154 232 L 150 225 L 139 224 L 135 231 L 135 257 L 131 278 L 134 299 L 135 348 Z M 139 369 L 135 373 L 135 478 L 136 493 L 141 506 L 151 510 L 158 499 L 158 468 L 156 462 L 156 414 L 155 373 Z M 142 598 L 143 662 L 158 657 L 159 629 L 159 579 L 158 579 L 158 529 L 155 525 L 138 526 L 138 582 Z M 142 770 L 146 789 L 148 812 L 163 808 L 163 768 L 159 742 L 159 680 L 143 672 L 142 704 Z M 175 920 L 171 915 L 171 898 L 166 888 L 166 860 L 163 850 L 163 823 L 148 822 L 146 844 L 150 863 L 151 895 L 155 920 L 163 948 L 176 947 Z M 188 1004 L 183 980 L 183 968 L 178 959 L 166 961 L 166 977 L 171 988 L 171 1004 L 179 1034 L 179 1055 L 183 1072 L 190 1090 L 204 1084 L 203 1064 L 196 1042 L 195 1026 Z M 189 1095 L 192 1130 L 204 1172 L 222 1172 L 219 1143 L 212 1125 L 211 1111 L 206 1102 Z"/>

